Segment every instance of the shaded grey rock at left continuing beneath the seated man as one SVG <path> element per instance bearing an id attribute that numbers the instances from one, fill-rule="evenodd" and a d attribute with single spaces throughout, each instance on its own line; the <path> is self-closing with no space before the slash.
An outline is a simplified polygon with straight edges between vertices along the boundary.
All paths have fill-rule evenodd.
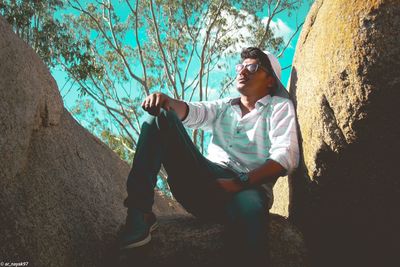
<path id="1" fill-rule="evenodd" d="M 194 219 L 159 192 L 153 242 L 118 250 L 129 166 L 72 118 L 47 68 L 1 17 L 0 132 L 0 261 L 49 267 L 225 262 L 223 227 Z M 273 266 L 307 266 L 295 227 L 277 215 L 266 227 Z"/>

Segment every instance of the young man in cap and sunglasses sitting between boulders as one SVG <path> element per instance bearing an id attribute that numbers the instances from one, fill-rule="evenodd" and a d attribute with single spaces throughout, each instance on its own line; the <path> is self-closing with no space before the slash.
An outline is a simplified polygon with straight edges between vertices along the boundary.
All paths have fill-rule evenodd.
<path id="1" fill-rule="evenodd" d="M 249 258 L 267 253 L 272 187 L 298 164 L 295 110 L 272 54 L 249 47 L 241 58 L 236 66 L 239 98 L 186 103 L 155 93 L 144 100 L 143 109 L 153 116 L 142 126 L 128 177 L 121 247 L 150 242 L 156 225 L 154 187 L 163 164 L 183 207 L 226 223 L 230 243 Z M 207 158 L 184 126 L 212 132 Z"/>

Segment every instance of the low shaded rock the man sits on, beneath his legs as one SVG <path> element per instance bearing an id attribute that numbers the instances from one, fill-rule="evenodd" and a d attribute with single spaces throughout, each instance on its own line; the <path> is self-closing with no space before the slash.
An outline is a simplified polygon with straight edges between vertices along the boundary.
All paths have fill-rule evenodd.
<path id="1" fill-rule="evenodd" d="M 223 227 L 190 215 L 161 217 L 149 245 L 122 251 L 119 266 L 231 266 L 234 252 L 223 250 Z M 272 214 L 269 224 L 271 267 L 308 266 L 301 233 L 284 217 Z M 239 252 L 240 253 L 240 252 Z"/>

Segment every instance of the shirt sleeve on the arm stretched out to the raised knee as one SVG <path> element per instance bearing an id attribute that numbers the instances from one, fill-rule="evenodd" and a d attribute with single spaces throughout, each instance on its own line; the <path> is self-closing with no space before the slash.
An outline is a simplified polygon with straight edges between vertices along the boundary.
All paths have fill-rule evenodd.
<path id="1" fill-rule="evenodd" d="M 186 104 L 189 112 L 182 121 L 183 125 L 193 129 L 211 130 L 220 112 L 222 101 L 187 102 Z"/>

